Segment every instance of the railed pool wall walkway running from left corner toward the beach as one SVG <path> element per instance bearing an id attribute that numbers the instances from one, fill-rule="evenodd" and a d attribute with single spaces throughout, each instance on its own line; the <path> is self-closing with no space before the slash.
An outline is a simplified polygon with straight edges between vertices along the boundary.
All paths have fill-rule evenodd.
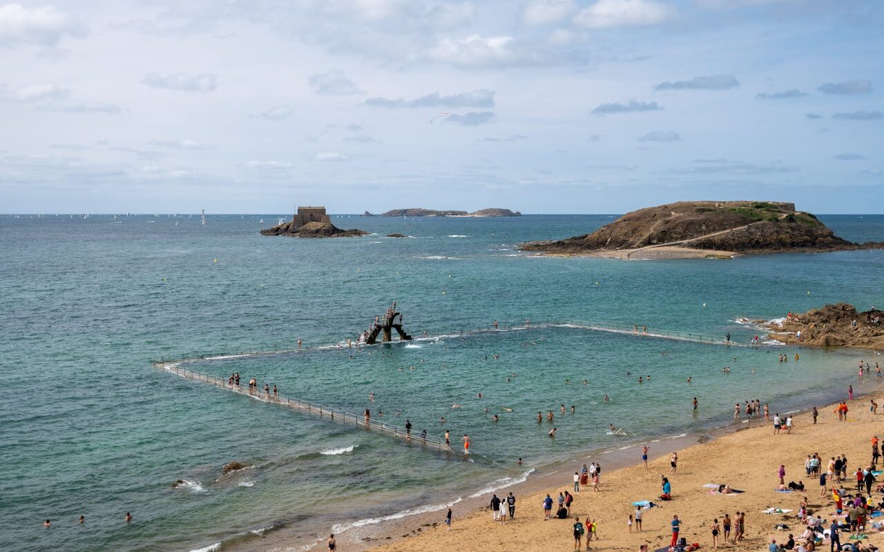
<path id="1" fill-rule="evenodd" d="M 194 382 L 207 383 L 221 389 L 232 391 L 233 393 L 245 395 L 246 397 L 253 398 L 263 403 L 271 403 L 275 405 L 285 406 L 286 408 L 292 408 L 305 414 L 312 414 L 314 416 L 324 418 L 325 420 L 337 421 L 356 427 L 363 427 L 365 429 L 370 429 L 385 435 L 389 435 L 396 439 L 401 439 L 402 441 L 420 444 L 431 449 L 444 450 L 445 452 L 454 452 L 451 447 L 446 445 L 445 439 L 440 439 L 439 437 L 433 435 L 415 434 L 409 436 L 405 427 L 393 426 L 384 422 L 379 422 L 377 420 L 365 420 L 364 416 L 361 415 L 345 412 L 343 410 L 340 410 L 339 408 L 333 408 L 331 406 L 317 405 L 316 403 L 311 403 L 309 401 L 301 400 L 300 398 L 296 397 L 277 395 L 274 394 L 272 390 L 270 392 L 265 392 L 263 389 L 260 388 L 249 389 L 248 384 L 246 387 L 240 387 L 236 384 L 229 384 L 227 380 L 225 380 L 225 378 L 223 377 L 218 377 L 212 374 L 205 374 L 203 372 L 196 372 L 194 370 L 188 370 L 187 368 L 181 367 L 177 362 L 156 362 L 154 363 L 154 367 L 165 370 L 167 372 L 171 372 L 172 374 L 180 375 L 181 377 L 188 380 L 193 380 Z M 458 452 L 457 454 L 462 453 Z"/>

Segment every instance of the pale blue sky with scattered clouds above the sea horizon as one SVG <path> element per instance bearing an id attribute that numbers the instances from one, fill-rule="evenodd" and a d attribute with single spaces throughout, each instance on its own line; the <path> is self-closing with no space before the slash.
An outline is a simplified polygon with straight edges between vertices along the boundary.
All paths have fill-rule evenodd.
<path id="1" fill-rule="evenodd" d="M 0 212 L 884 212 L 877 0 L 0 0 Z"/>

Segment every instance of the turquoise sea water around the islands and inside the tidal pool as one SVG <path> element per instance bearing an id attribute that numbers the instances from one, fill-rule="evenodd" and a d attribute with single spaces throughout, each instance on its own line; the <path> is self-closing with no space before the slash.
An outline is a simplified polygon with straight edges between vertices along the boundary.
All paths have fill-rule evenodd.
<path id="1" fill-rule="evenodd" d="M 834 301 L 880 305 L 881 251 L 537 258 L 516 245 L 591 231 L 613 216 L 353 216 L 335 222 L 377 235 L 332 240 L 262 237 L 258 216 L 208 218 L 202 226 L 198 217 L 0 217 L 0 359 L 11 384 L 0 401 L 0 548 L 191 550 L 223 542 L 282 550 L 332 528 L 355 539 L 374 526 L 360 520 L 467 498 L 530 467 L 543 473 L 587 451 L 728 424 L 737 401 L 758 397 L 785 412 L 836 397 L 846 383 L 832 376 L 872 359 L 805 350 L 782 365 L 779 353 L 794 349 L 567 328 L 454 334 L 494 320 L 608 321 L 730 332 L 742 343 L 757 330 L 737 323 L 741 317 Z M 276 222 L 263 218 L 264 226 Z M 820 218 L 844 238 L 884 239 L 884 216 Z M 390 232 L 414 238 L 382 237 Z M 441 435 L 447 427 L 455 440 L 469 433 L 475 462 L 151 367 L 157 358 L 292 348 L 299 337 L 305 347 L 337 344 L 392 300 L 411 333 L 446 337 L 370 354 L 301 352 L 194 369 L 239 371 L 244 382 L 255 376 L 352 412 L 381 409 L 385 421 L 408 418 L 415 431 Z M 637 374 L 652 380 L 639 385 Z M 560 404 L 575 405 L 575 414 L 559 415 Z M 550 424 L 537 424 L 538 410 L 556 412 L 554 441 Z M 607 435 L 609 423 L 628 436 Z M 231 460 L 253 467 L 222 476 Z M 171 488 L 176 480 L 193 485 Z M 80 514 L 85 526 L 76 524 Z M 41 526 L 45 518 L 52 529 Z"/>

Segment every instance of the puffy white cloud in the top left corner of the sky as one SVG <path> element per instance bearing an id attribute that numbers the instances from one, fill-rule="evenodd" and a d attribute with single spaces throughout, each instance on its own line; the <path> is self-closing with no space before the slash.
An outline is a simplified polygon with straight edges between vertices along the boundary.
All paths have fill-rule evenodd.
<path id="1" fill-rule="evenodd" d="M 54 46 L 63 36 L 81 34 L 83 31 L 71 14 L 52 6 L 0 5 L 0 45 Z"/>

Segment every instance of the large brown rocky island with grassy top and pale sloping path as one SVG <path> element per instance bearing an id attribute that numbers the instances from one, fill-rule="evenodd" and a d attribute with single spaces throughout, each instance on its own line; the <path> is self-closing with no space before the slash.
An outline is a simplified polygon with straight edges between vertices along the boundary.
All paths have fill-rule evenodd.
<path id="1" fill-rule="evenodd" d="M 619 259 L 731 258 L 743 253 L 884 248 L 839 238 L 794 203 L 680 201 L 633 211 L 591 234 L 530 242 L 523 251 Z"/>

